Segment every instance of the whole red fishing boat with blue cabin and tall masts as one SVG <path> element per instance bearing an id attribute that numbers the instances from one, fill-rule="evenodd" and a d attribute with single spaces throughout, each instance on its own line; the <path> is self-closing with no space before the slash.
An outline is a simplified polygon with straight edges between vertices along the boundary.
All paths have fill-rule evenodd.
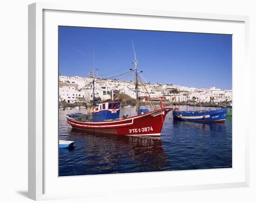
<path id="1" fill-rule="evenodd" d="M 165 117 L 172 108 L 164 107 L 162 101 L 160 102 L 160 107 L 155 108 L 153 111 L 141 108 L 138 91 L 137 64 L 135 55 L 134 70 L 130 69 L 130 71 L 135 73 L 135 116 L 129 117 L 128 115 L 123 115 L 120 117 L 121 100 L 119 99 L 112 97 L 112 100 L 95 101 L 95 79 L 93 79 L 92 83 L 88 85 L 93 90 L 93 105 L 91 108 L 88 108 L 88 114 L 67 114 L 67 123 L 73 128 L 93 134 L 160 136 Z"/>

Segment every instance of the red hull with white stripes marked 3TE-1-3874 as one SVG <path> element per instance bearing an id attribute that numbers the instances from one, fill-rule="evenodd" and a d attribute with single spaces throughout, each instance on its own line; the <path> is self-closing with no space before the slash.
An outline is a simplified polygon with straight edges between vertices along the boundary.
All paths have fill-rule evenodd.
<path id="1" fill-rule="evenodd" d="M 67 116 L 67 123 L 76 129 L 93 134 L 160 136 L 164 119 L 171 110 L 163 108 L 130 118 L 103 122 L 80 121 Z"/>

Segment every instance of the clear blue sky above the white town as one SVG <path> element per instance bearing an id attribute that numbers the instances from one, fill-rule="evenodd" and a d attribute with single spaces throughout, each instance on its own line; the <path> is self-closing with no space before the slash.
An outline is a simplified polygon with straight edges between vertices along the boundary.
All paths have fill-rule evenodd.
<path id="1" fill-rule="evenodd" d="M 134 66 L 132 39 L 138 70 L 147 82 L 232 89 L 232 36 L 223 34 L 60 26 L 60 74 L 88 76 L 93 52 L 101 78 L 128 72 Z"/>

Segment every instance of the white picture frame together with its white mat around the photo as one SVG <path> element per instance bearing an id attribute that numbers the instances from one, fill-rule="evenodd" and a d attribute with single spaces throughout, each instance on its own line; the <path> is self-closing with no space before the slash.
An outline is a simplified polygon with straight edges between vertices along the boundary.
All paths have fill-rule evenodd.
<path id="1" fill-rule="evenodd" d="M 172 28 L 164 24 L 172 25 Z M 233 34 L 233 168 L 58 177 L 58 125 L 54 125 L 56 117 L 51 120 L 49 116 L 57 106 L 56 101 L 49 98 L 56 97 L 52 87 L 57 87 L 55 84 L 58 83 L 55 75 L 58 69 L 58 25 Z M 241 94 L 249 95 L 249 17 L 34 3 L 28 7 L 28 37 L 29 198 L 44 200 L 72 198 L 74 195 L 76 198 L 109 196 L 116 195 L 117 191 L 119 194 L 135 194 L 249 186 L 249 126 L 241 120 L 241 115 L 247 112 L 236 108 L 245 102 L 240 99 Z M 135 184 L 135 180 L 139 181 Z M 74 190 L 62 187 L 65 183 L 73 183 Z"/>

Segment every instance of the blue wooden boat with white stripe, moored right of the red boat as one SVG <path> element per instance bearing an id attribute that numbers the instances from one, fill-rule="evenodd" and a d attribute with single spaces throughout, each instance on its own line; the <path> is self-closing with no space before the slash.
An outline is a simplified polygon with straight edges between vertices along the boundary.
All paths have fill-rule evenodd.
<path id="1" fill-rule="evenodd" d="M 227 109 L 202 110 L 202 111 L 179 111 L 175 108 L 173 111 L 174 120 L 195 121 L 195 122 L 225 122 Z"/>

